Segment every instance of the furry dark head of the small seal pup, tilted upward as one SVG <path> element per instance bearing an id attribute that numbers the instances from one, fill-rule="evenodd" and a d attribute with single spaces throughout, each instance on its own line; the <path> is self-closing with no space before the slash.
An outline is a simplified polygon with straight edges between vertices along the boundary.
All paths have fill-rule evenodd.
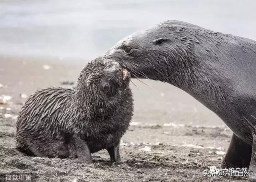
<path id="1" fill-rule="evenodd" d="M 80 102 L 104 108 L 123 99 L 130 89 L 130 78 L 130 72 L 119 63 L 99 57 L 84 67 L 75 89 Z"/>

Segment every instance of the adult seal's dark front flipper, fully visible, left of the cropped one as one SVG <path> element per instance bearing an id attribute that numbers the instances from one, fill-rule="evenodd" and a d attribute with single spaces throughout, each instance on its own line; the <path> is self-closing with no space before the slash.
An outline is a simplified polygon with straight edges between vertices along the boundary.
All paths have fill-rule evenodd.
<path id="1" fill-rule="evenodd" d="M 251 153 L 252 146 L 233 133 L 228 151 L 222 160 L 221 168 L 249 168 Z"/>

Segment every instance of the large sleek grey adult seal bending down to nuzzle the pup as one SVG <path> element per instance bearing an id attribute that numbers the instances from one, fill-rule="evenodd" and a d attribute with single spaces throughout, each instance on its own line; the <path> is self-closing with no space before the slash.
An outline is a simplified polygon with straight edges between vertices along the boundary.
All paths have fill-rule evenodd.
<path id="1" fill-rule="evenodd" d="M 256 177 L 255 41 L 166 21 L 122 39 L 104 57 L 132 77 L 181 88 L 215 112 L 234 132 L 222 167 L 250 165 Z"/>

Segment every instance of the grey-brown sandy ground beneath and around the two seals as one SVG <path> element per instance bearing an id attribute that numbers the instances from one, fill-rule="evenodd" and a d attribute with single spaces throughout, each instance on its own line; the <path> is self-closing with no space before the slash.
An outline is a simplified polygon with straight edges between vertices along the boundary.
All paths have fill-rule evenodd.
<path id="1" fill-rule="evenodd" d="M 247 180 L 203 175 L 210 166 L 220 168 L 232 131 L 182 90 L 152 80 L 143 80 L 148 85 L 138 80 L 132 80 L 136 86 L 130 84 L 135 108 L 122 138 L 122 164 L 110 164 L 105 150 L 95 154 L 102 159 L 93 164 L 28 157 L 16 151 L 16 116 L 25 94 L 48 86 L 71 87 L 82 67 L 0 58 L 0 97 L 7 99 L 5 103 L 0 98 L 0 181 L 5 181 L 6 174 L 32 174 L 32 181 L 38 182 Z"/>

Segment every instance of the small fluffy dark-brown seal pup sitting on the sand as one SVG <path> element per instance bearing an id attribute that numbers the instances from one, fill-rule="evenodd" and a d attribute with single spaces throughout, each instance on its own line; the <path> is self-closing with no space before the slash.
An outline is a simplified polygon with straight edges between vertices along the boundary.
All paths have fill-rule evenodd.
<path id="1" fill-rule="evenodd" d="M 107 149 L 120 162 L 119 142 L 133 112 L 130 73 L 111 60 L 96 59 L 82 70 L 72 89 L 36 91 L 18 115 L 17 148 L 38 157 L 76 158 Z"/>

